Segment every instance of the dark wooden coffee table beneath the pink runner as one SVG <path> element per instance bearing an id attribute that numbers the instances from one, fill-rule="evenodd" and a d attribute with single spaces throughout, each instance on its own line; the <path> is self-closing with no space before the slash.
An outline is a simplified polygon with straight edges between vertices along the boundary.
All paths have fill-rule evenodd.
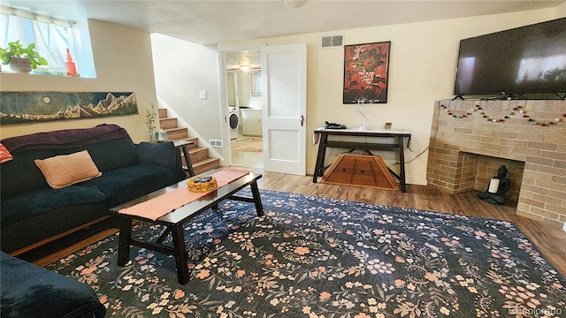
<path id="1" fill-rule="evenodd" d="M 264 207 L 262 206 L 262 201 L 259 197 L 259 190 L 257 188 L 257 180 L 259 178 L 262 178 L 261 174 L 249 173 L 249 175 L 236 179 L 226 186 L 221 186 L 210 194 L 207 194 L 196 201 L 192 201 L 181 208 L 177 208 L 174 211 L 159 217 L 155 221 L 141 216 L 119 214 L 119 210 L 122 208 L 132 207 L 135 204 L 141 203 L 143 201 L 148 201 L 149 199 L 155 198 L 164 193 L 172 192 L 181 186 L 186 186 L 187 180 L 181 181 L 177 185 L 167 186 L 161 190 L 157 190 L 156 192 L 143 195 L 140 198 L 121 204 L 118 207 L 111 208 L 111 214 L 120 217 L 118 265 L 126 265 L 127 261 L 130 258 L 130 246 L 139 246 L 163 254 L 173 255 L 175 256 L 175 261 L 177 264 L 177 277 L 179 279 L 179 283 L 187 284 L 188 256 L 187 251 L 185 250 L 185 233 L 183 230 L 183 224 L 190 221 L 193 217 L 200 215 L 208 208 L 218 208 L 218 203 L 226 199 L 253 202 L 256 205 L 257 216 L 264 216 Z M 248 198 L 233 195 L 246 186 L 251 187 L 253 197 Z M 166 229 L 155 242 L 133 239 L 132 223 L 134 220 L 163 224 L 166 226 Z M 166 239 L 169 234 L 172 235 L 172 247 L 164 246 L 162 244 L 164 239 Z"/>

